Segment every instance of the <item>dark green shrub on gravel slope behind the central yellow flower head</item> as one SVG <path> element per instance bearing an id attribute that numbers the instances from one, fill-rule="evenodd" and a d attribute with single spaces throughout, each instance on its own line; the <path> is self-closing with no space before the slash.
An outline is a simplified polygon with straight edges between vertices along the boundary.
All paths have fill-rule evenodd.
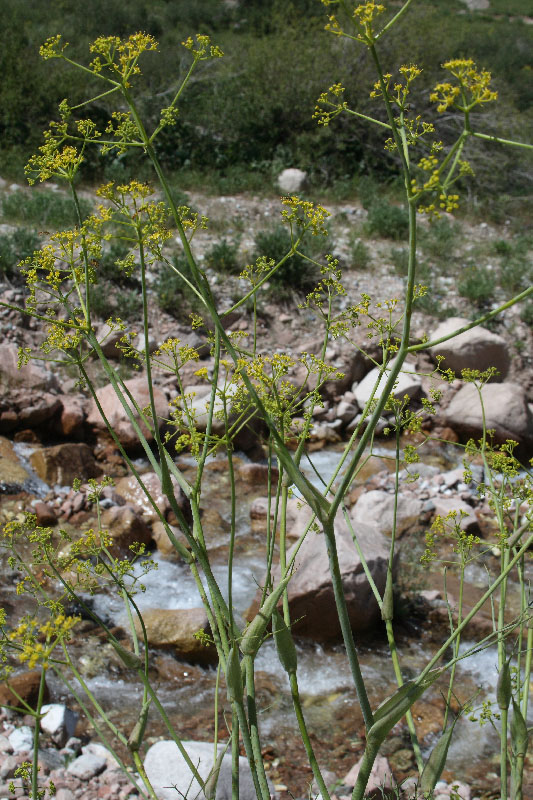
<path id="1" fill-rule="evenodd" d="M 266 256 L 267 258 L 273 258 L 277 263 L 291 249 L 291 237 L 285 228 L 281 225 L 276 225 L 274 228 L 258 233 L 254 244 L 256 248 L 253 255 L 254 259 L 259 258 L 259 256 Z M 328 243 L 328 246 L 330 245 L 331 243 Z M 318 255 L 318 253 L 311 251 L 309 245 L 301 247 L 300 250 L 310 257 Z M 274 273 L 270 279 L 270 285 L 275 295 L 291 291 L 301 295 L 310 292 L 316 286 L 319 277 L 320 272 L 316 265 L 307 261 L 301 255 L 294 255 Z"/>

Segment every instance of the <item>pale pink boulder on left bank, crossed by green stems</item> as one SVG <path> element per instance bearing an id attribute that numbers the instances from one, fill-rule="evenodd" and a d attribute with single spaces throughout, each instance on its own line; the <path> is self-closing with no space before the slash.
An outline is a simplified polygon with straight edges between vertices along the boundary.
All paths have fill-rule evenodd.
<path id="1" fill-rule="evenodd" d="M 132 378 L 125 381 L 125 387 L 133 397 L 137 406 L 141 409 L 150 405 L 150 396 L 148 393 L 148 383 L 145 377 Z M 157 386 L 153 387 L 155 408 L 157 413 L 157 424 L 159 427 L 163 424 L 164 418 L 167 416 L 168 403 L 165 394 Z M 113 386 L 108 383 L 96 392 L 98 401 L 102 407 L 109 424 L 113 428 L 120 443 L 126 447 L 136 447 L 139 444 L 139 437 L 128 419 L 128 416 L 118 399 Z M 131 407 L 131 406 L 130 406 Z M 139 421 L 139 416 L 136 413 L 135 418 Z M 99 430 L 107 430 L 106 424 L 102 419 L 96 402 L 91 400 L 89 407 L 89 415 L 87 423 L 93 425 Z M 144 423 L 141 423 L 141 430 L 148 441 L 153 439 L 152 433 L 148 430 Z"/>

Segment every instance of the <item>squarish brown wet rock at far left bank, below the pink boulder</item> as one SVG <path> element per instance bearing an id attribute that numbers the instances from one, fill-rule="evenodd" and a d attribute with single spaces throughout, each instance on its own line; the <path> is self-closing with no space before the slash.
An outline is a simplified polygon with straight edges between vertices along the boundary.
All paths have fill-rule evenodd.
<path id="1" fill-rule="evenodd" d="M 75 478 L 86 481 L 101 474 L 89 445 L 67 442 L 42 447 L 30 456 L 37 475 L 46 483 L 70 486 Z"/>

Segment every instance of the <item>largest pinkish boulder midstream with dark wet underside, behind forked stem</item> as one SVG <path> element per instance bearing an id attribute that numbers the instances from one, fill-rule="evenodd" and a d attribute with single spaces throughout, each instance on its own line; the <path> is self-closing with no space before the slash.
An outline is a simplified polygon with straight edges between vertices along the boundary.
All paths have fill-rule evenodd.
<path id="1" fill-rule="evenodd" d="M 291 536 L 303 533 L 310 518 L 310 510 L 306 506 L 302 507 L 292 525 Z M 389 557 L 387 539 L 376 528 L 363 522 L 354 522 L 353 526 L 374 583 L 378 591 L 383 592 Z M 335 520 L 335 540 L 350 624 L 356 632 L 367 631 L 378 622 L 379 607 L 341 513 Z M 296 546 L 295 544 L 289 549 L 288 560 Z M 298 550 L 295 565 L 296 570 L 288 586 L 289 608 L 293 620 L 291 630 L 298 636 L 315 641 L 340 638 L 341 628 L 323 533 L 312 530 L 308 532 Z M 275 579 L 279 579 L 279 567 L 275 570 Z M 258 604 L 259 594 L 246 614 L 248 619 L 256 613 Z"/>

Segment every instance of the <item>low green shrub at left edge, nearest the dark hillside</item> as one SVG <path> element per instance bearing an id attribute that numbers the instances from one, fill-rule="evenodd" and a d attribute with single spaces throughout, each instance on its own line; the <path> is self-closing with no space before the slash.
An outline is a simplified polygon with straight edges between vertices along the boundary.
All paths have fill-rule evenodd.
<path id="1" fill-rule="evenodd" d="M 80 198 L 82 219 L 89 216 L 91 204 Z M 2 213 L 6 219 L 38 225 L 40 228 L 66 228 L 78 222 L 72 200 L 65 194 L 51 191 L 32 192 L 22 190 L 4 197 Z"/>

